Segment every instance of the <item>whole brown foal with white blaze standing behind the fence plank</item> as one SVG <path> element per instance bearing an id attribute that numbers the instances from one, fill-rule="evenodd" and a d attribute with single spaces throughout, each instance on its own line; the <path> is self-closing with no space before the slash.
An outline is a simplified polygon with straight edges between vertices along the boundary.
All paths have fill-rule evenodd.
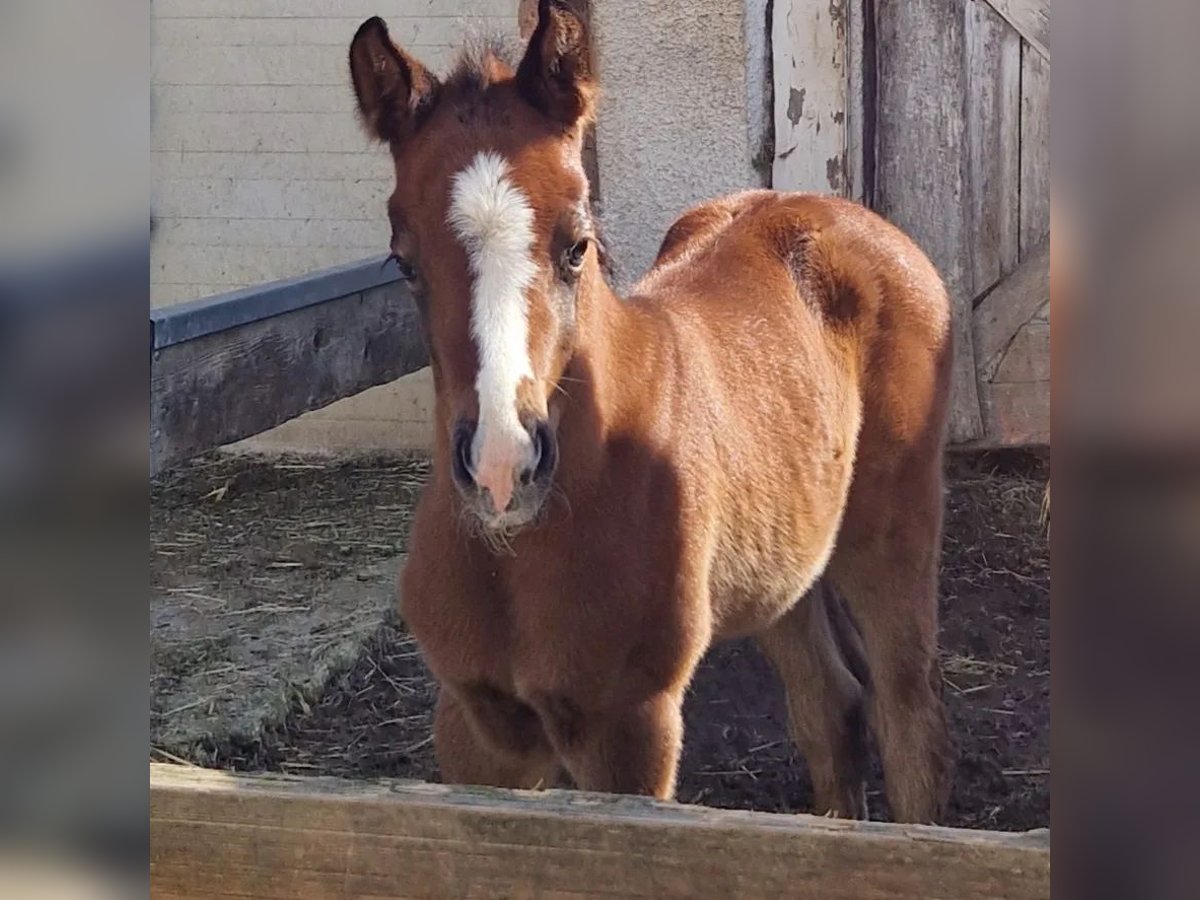
<path id="1" fill-rule="evenodd" d="M 350 59 L 360 109 L 397 161 L 394 247 L 426 259 L 442 427 L 401 596 L 442 685 L 443 776 L 671 797 L 700 659 L 714 641 L 754 635 L 786 685 L 821 811 L 865 815 L 869 720 L 893 812 L 936 817 L 948 767 L 934 685 L 949 313 L 928 259 L 854 204 L 751 191 L 682 216 L 619 299 L 580 212 L 572 161 L 590 70 L 570 6 L 542 0 L 515 76 L 476 66 L 491 71 L 469 102 L 428 89 L 422 102 L 451 112 L 428 113 L 424 132 L 403 116 L 421 109 L 412 94 L 430 77 L 380 28 L 364 25 Z M 542 132 L 522 103 L 570 127 Z M 380 125 L 388 104 L 401 119 Z M 480 108 L 508 126 L 492 146 L 516 142 L 506 162 L 484 160 L 485 172 L 469 150 L 452 163 L 430 150 L 431 134 L 466 143 Z M 406 185 L 402 172 L 427 178 Z M 529 236 L 488 244 L 514 215 Z M 527 244 L 547 263 L 497 264 Z M 522 266 L 520 283 L 506 275 Z M 499 287 L 481 298 L 481 284 Z M 529 374 L 514 388 L 511 434 L 480 438 L 503 418 L 485 390 L 503 382 L 488 370 L 497 344 L 474 324 L 468 340 L 452 298 L 469 294 L 476 316 L 505 290 L 528 307 L 498 328 L 526 329 L 529 359 L 496 371 Z"/>

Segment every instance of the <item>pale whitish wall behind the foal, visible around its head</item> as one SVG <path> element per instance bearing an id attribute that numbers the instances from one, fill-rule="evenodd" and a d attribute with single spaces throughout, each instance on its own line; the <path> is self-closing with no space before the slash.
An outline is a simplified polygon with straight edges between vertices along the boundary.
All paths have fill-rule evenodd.
<path id="1" fill-rule="evenodd" d="M 346 49 L 368 16 L 434 68 L 518 0 L 156 0 L 151 302 L 384 252 L 384 149 L 353 113 Z M 334 14 L 336 13 L 336 14 Z M 686 206 L 763 184 L 766 0 L 593 0 L 601 215 L 620 286 Z M 253 449 L 424 446 L 428 372 L 260 436 Z"/>

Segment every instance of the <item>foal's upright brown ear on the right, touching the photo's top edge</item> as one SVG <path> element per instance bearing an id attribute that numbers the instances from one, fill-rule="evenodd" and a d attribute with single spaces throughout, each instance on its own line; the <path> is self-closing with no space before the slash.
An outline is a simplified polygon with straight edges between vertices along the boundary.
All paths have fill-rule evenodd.
<path id="1" fill-rule="evenodd" d="M 563 125 L 590 120 L 596 83 L 583 16 L 570 0 L 540 0 L 538 24 L 517 67 L 517 88 L 534 107 Z"/>

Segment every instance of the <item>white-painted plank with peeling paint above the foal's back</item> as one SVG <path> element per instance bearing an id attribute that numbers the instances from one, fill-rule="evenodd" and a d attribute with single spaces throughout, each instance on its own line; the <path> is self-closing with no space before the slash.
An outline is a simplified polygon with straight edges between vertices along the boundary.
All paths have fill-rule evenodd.
<path id="1" fill-rule="evenodd" d="M 772 186 L 846 196 L 846 0 L 775 0 L 770 36 Z"/>

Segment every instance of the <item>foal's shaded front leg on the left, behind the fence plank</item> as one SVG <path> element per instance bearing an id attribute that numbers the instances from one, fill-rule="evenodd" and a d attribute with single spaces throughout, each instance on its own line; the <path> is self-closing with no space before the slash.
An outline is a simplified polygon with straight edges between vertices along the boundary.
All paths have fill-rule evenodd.
<path id="1" fill-rule="evenodd" d="M 536 714 L 511 698 L 464 702 L 442 688 L 433 715 L 433 746 L 446 784 L 553 787 L 560 774 Z"/>

